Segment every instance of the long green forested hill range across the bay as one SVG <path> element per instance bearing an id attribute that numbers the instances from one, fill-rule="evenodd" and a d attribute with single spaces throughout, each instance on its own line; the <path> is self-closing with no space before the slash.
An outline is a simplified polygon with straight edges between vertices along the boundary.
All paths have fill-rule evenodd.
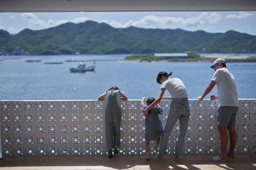
<path id="1" fill-rule="evenodd" d="M 16 35 L 0 30 L 0 51 L 20 47 L 29 54 L 147 54 L 201 51 L 256 52 L 256 36 L 227 31 L 207 33 L 182 29 L 113 28 L 106 23 L 65 23 L 40 31 L 24 29 Z"/>

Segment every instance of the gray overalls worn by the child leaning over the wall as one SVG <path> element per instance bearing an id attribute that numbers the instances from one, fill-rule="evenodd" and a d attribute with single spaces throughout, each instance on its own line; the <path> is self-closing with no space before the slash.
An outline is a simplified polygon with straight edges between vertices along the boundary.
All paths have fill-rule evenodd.
<path id="1" fill-rule="evenodd" d="M 119 148 L 120 146 L 120 124 L 121 110 L 116 102 L 116 93 L 108 96 L 108 105 L 105 111 L 105 128 L 107 149 Z"/>

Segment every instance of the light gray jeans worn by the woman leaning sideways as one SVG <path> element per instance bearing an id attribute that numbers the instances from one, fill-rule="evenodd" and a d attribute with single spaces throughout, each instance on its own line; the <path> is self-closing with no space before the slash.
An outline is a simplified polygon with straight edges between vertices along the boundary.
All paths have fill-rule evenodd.
<path id="1" fill-rule="evenodd" d="M 159 153 L 166 154 L 166 148 L 169 140 L 169 136 L 171 135 L 172 129 L 177 122 L 180 120 L 180 133 L 178 137 L 178 142 L 175 147 L 175 155 L 180 156 L 185 137 L 186 137 L 186 130 L 189 123 L 189 116 L 190 116 L 190 109 L 189 109 L 189 102 L 184 101 L 172 101 L 169 115 L 166 120 L 166 124 L 163 130 L 163 136 L 161 138 Z"/>

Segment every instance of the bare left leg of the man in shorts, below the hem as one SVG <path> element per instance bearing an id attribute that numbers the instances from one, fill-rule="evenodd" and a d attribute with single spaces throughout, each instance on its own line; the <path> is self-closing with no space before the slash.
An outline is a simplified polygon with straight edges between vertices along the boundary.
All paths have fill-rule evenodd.
<path id="1" fill-rule="evenodd" d="M 221 153 L 218 156 L 220 157 L 220 159 L 227 159 L 227 143 L 228 143 L 227 127 L 218 125 L 218 131 L 221 137 Z"/>

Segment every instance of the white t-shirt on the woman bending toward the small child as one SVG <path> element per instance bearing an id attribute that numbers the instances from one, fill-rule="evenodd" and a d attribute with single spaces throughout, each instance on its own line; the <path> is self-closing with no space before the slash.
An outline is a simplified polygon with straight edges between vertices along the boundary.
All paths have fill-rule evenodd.
<path id="1" fill-rule="evenodd" d="M 169 77 L 169 79 L 163 82 L 161 88 L 166 88 L 169 91 L 171 99 L 174 97 L 183 98 L 188 96 L 185 85 L 178 78 Z"/>

